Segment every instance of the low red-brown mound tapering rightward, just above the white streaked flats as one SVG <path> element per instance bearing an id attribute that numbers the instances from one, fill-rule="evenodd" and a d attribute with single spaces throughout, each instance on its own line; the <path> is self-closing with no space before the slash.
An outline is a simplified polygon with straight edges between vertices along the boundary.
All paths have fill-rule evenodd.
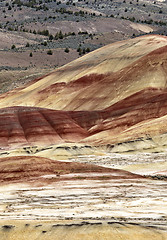
<path id="1" fill-rule="evenodd" d="M 74 162 L 60 162 L 42 157 L 15 156 L 0 159 L 0 182 L 38 180 L 47 182 L 47 179 L 39 179 L 40 176 L 52 175 L 54 181 L 64 180 L 69 173 L 110 173 L 110 179 L 136 179 L 143 178 L 138 174 L 128 171 L 105 168 L 92 164 Z M 60 179 L 60 176 L 63 178 Z M 58 178 L 56 177 L 58 176 Z M 73 179 L 75 176 L 71 177 Z M 82 176 L 82 178 L 91 178 Z M 97 176 L 98 177 L 98 176 Z M 97 178 L 94 176 L 94 178 Z M 70 180 L 70 178 L 68 178 Z"/>

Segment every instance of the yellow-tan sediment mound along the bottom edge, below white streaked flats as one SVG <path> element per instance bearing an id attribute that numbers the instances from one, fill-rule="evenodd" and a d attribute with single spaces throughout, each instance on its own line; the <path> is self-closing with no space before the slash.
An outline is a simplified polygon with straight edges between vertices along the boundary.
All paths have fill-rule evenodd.
<path id="1" fill-rule="evenodd" d="M 101 222 L 81 222 L 76 224 L 59 224 L 46 222 L 25 221 L 25 224 L 10 222 L 0 228 L 0 238 L 2 240 L 161 240 L 166 239 L 167 234 L 159 229 L 142 227 L 133 224 L 101 223 Z"/>

